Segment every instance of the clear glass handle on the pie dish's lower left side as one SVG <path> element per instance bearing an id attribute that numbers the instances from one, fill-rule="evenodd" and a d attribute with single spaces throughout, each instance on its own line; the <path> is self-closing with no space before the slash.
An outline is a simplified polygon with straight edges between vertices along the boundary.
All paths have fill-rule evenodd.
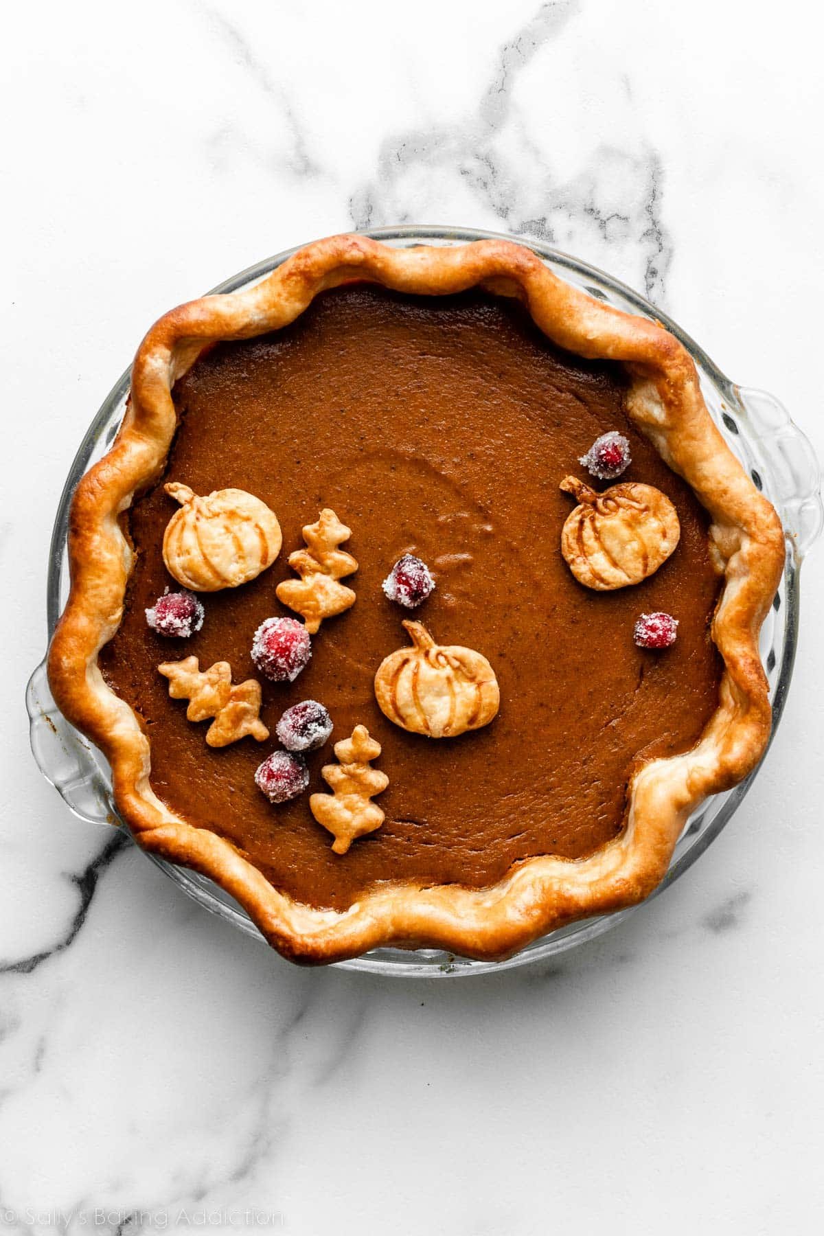
<path id="1" fill-rule="evenodd" d="M 63 802 L 86 824 L 117 823 L 109 786 L 91 748 L 54 703 L 44 661 L 28 680 L 26 708 L 32 755 Z"/>

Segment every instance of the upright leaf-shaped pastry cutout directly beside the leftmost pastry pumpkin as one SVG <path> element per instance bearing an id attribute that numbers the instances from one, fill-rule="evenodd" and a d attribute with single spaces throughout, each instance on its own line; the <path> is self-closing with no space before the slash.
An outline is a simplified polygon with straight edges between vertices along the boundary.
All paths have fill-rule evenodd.
<path id="1" fill-rule="evenodd" d="M 306 524 L 303 530 L 306 549 L 289 555 L 289 566 L 300 578 L 284 580 L 275 592 L 278 601 L 303 617 L 310 635 L 324 618 L 335 618 L 355 604 L 352 588 L 337 582 L 357 571 L 356 559 L 337 548 L 351 535 L 351 529 L 325 507 L 317 523 Z"/>

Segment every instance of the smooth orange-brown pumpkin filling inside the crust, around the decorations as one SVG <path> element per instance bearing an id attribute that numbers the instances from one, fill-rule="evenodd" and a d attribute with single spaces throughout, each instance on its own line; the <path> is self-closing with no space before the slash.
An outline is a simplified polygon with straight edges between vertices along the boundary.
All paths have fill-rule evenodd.
<path id="1" fill-rule="evenodd" d="M 126 517 L 137 551 L 126 611 L 100 654 L 106 681 L 142 718 L 151 784 L 183 819 L 227 838 L 274 887 L 345 910 L 392 880 L 482 887 L 536 854 L 581 858 L 624 826 L 637 761 L 691 748 L 718 707 L 721 660 L 710 638 L 720 578 L 709 519 L 691 488 L 630 423 L 614 362 L 555 347 L 518 303 L 478 292 L 409 298 L 356 286 L 317 297 L 277 334 L 219 344 L 174 387 L 179 428 L 163 476 Z M 675 504 L 672 556 L 631 587 L 598 592 L 561 555 L 573 503 L 571 471 L 603 491 L 578 460 L 619 431 L 631 444 L 621 481 L 656 487 Z M 152 630 L 146 608 L 175 587 L 163 538 L 174 480 L 199 494 L 247 491 L 277 513 L 283 554 L 236 588 L 201 592 L 205 620 L 190 639 Z M 358 562 L 345 582 L 356 603 L 322 623 L 294 682 L 269 682 L 252 637 L 292 616 L 275 586 L 301 528 L 332 508 L 352 530 Z M 494 666 L 497 717 L 435 740 L 378 708 L 382 660 L 408 641 L 413 617 L 382 582 L 404 554 L 436 587 L 415 611 L 439 644 L 471 645 Z M 636 646 L 642 612 L 678 619 L 665 654 Z M 158 662 L 229 661 L 236 681 L 262 681 L 268 747 L 251 738 L 212 749 L 172 700 Z M 320 701 L 329 743 L 306 756 L 310 791 L 325 790 L 331 747 L 366 724 L 389 777 L 385 819 L 345 855 L 313 817 L 306 795 L 275 806 L 254 770 L 277 745 L 290 706 Z"/>

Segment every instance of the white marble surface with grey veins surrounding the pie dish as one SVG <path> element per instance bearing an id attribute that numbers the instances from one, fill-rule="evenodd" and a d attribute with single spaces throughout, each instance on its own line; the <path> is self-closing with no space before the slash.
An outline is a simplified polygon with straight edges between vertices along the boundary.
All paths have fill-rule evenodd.
<path id="1" fill-rule="evenodd" d="M 0 1224 L 819 1230 L 820 550 L 741 811 L 544 970 L 294 969 L 73 821 L 22 711 L 63 476 L 142 331 L 315 236 L 549 237 L 780 394 L 824 456 L 817 20 L 802 0 L 5 12 Z"/>

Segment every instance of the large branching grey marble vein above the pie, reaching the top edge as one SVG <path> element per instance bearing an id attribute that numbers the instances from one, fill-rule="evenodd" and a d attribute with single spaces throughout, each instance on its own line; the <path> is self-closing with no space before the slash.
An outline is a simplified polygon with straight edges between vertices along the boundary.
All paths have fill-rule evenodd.
<path id="1" fill-rule="evenodd" d="M 523 70 L 563 36 L 578 12 L 577 0 L 541 5 L 500 48 L 471 112 L 457 122 L 384 138 L 374 176 L 350 197 L 353 225 L 366 230 L 432 218 L 466 221 L 439 218 L 437 201 L 457 179 L 499 226 L 602 265 L 614 253 L 613 261 L 629 265 L 635 283 L 662 304 L 673 246 L 663 221 L 658 152 L 645 138 L 625 148 L 600 141 L 586 168 L 563 179 L 552 166 L 551 135 L 541 135 L 539 146 L 530 132 L 534 117 L 525 116 L 513 96 Z"/>

